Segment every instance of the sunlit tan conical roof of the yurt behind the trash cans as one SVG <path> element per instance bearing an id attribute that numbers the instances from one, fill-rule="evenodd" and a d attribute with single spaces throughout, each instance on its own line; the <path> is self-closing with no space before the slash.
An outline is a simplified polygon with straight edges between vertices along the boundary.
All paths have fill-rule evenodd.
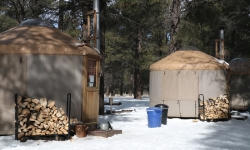
<path id="1" fill-rule="evenodd" d="M 201 51 L 180 50 L 157 61 L 150 70 L 226 70 L 229 66 Z"/>

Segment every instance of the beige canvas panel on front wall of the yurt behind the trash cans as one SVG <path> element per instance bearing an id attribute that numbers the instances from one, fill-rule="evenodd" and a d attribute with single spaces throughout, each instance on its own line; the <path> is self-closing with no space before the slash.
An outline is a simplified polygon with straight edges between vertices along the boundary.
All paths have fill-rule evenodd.
<path id="1" fill-rule="evenodd" d="M 169 106 L 170 117 L 196 117 L 198 73 L 193 70 L 164 71 L 162 100 Z"/>

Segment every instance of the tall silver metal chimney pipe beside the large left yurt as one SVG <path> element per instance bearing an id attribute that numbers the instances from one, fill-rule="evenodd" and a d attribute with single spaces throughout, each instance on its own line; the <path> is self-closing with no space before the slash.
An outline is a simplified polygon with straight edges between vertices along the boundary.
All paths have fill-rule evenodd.
<path id="1" fill-rule="evenodd" d="M 93 0 L 93 8 L 96 11 L 96 48 L 100 51 L 100 10 L 99 0 Z"/>

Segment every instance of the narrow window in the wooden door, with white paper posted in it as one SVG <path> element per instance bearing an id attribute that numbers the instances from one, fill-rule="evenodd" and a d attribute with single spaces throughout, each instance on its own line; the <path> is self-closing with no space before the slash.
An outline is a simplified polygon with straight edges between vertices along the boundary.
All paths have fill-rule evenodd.
<path id="1" fill-rule="evenodd" d="M 88 59 L 88 86 L 96 84 L 96 60 Z"/>

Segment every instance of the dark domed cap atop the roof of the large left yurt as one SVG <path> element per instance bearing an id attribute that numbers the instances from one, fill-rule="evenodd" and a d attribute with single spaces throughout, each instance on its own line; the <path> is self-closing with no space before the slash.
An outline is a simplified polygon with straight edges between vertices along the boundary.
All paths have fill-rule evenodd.
<path id="1" fill-rule="evenodd" d="M 45 27 L 55 28 L 53 24 L 40 19 L 28 19 L 21 22 L 19 26 L 45 26 Z"/>

